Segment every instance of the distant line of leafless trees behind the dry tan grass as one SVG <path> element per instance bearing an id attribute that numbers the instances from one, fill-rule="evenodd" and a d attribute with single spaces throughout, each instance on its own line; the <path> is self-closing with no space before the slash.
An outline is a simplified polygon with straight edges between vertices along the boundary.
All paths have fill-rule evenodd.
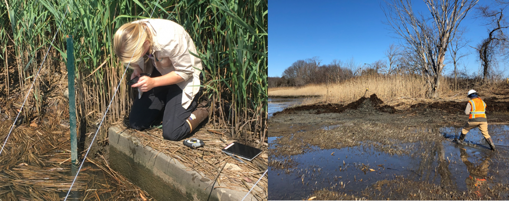
<path id="1" fill-rule="evenodd" d="M 385 51 L 386 60 L 381 59 L 370 64 L 361 64 L 354 58 L 343 62 L 333 60 L 330 64 L 322 65 L 320 58 L 298 60 L 290 67 L 285 69 L 281 77 L 268 77 L 268 87 L 302 87 L 307 84 L 332 84 L 339 83 L 356 76 L 367 75 L 413 75 L 425 77 L 422 73 L 422 63 L 416 59 L 411 52 L 401 51 L 395 45 L 390 45 Z M 485 75 L 477 74 L 477 72 L 469 72 L 465 65 L 460 68 L 458 58 L 461 56 L 451 56 L 448 64 L 451 65 L 452 71 L 449 74 L 443 74 L 442 77 L 448 79 L 448 83 L 454 84 L 455 88 L 472 87 L 472 85 L 485 83 Z M 490 79 L 504 79 L 501 71 L 490 69 Z"/>

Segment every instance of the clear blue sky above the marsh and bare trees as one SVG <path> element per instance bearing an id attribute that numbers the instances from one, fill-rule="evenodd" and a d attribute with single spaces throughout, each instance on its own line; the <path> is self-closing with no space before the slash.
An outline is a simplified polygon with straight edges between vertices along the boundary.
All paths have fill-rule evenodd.
<path id="1" fill-rule="evenodd" d="M 414 6 L 426 9 L 422 1 Z M 481 3 L 486 1 L 480 1 Z M 269 76 L 281 76 L 282 72 L 297 60 L 319 56 L 321 64 L 330 64 L 337 59 L 343 62 L 352 57 L 356 63 L 373 63 L 386 59 L 384 51 L 390 44 L 398 44 L 396 35 L 383 22 L 386 17 L 380 8 L 382 1 L 269 1 Z M 488 36 L 482 21 L 472 18 L 473 12 L 461 22 L 468 28 L 465 38 L 470 46 Z M 461 62 L 469 74 L 477 73 L 479 63 L 472 54 Z M 447 55 L 449 55 L 447 53 Z M 464 69 L 463 64 L 461 69 Z M 503 70 L 504 65 L 500 65 Z M 452 64 L 444 73 L 454 70 Z"/>

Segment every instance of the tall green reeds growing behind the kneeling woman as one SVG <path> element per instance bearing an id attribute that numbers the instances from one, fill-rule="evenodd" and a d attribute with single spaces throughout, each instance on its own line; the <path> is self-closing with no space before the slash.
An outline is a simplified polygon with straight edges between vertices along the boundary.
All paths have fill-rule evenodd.
<path id="1" fill-rule="evenodd" d="M 122 24 L 150 16 L 157 1 L 10 0 L 0 5 L 0 64 L 4 75 L 18 75 L 0 94 L 17 87 L 20 94 L 33 81 L 60 21 L 68 14 L 43 66 L 41 78 L 25 109 L 39 117 L 56 74 L 66 73 L 65 36 L 75 44 L 79 118 L 92 125 L 102 117 L 124 67 L 111 47 L 112 35 Z M 204 64 L 205 95 L 211 100 L 211 122 L 230 127 L 236 137 L 262 138 L 267 122 L 267 1 L 161 0 L 153 18 L 183 25 Z M 6 41 L 6 42 L 4 42 Z M 11 58 L 9 60 L 8 58 Z M 9 68 L 10 71 L 7 71 Z M 15 72 L 13 71 L 15 69 Z M 11 74 L 9 74 L 11 73 Z M 129 77 L 128 72 L 127 77 Z M 1 75 L 0 75 L 1 76 Z M 123 120 L 130 109 L 132 90 L 122 80 L 107 122 Z M 54 91 L 54 90 L 53 90 Z M 22 100 L 21 100 L 22 101 Z M 19 100 L 14 102 L 20 102 Z M 83 121 L 84 120 L 84 121 Z M 90 126 L 89 125 L 89 126 Z M 106 128 L 106 126 L 104 127 Z M 102 132 L 105 133 L 105 132 Z M 105 135 L 99 140 L 105 139 Z"/>

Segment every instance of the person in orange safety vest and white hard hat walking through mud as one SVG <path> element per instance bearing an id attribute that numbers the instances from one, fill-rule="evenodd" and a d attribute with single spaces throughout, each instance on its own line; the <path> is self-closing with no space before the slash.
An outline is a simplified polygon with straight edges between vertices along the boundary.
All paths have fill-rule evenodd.
<path id="1" fill-rule="evenodd" d="M 488 134 L 488 119 L 486 118 L 486 103 L 477 97 L 477 92 L 475 90 L 468 91 L 468 98 L 470 101 L 467 103 L 467 107 L 465 108 L 465 114 L 469 114 L 468 122 L 463 126 L 463 130 L 461 131 L 461 135 L 457 140 L 457 143 L 460 145 L 465 145 L 466 143 L 463 141 L 468 131 L 472 128 L 479 128 L 480 132 L 483 133 L 484 138 L 490 145 L 492 151 L 495 150 L 495 145 L 493 145 L 493 141 L 491 140 L 490 135 Z"/>

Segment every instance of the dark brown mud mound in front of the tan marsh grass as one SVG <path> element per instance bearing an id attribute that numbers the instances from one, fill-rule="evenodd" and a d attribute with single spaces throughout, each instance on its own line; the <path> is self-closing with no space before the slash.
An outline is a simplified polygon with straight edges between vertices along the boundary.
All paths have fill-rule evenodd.
<path id="1" fill-rule="evenodd" d="M 370 98 L 361 97 L 359 100 L 356 100 L 354 102 L 351 102 L 348 105 L 342 105 L 342 104 L 333 104 L 333 103 L 327 103 L 327 104 L 316 104 L 316 105 L 302 105 L 297 107 L 290 107 L 286 108 L 282 111 L 274 113 L 274 116 L 276 116 L 279 113 L 294 113 L 295 111 L 313 111 L 315 110 L 315 114 L 321 114 L 321 113 L 341 113 L 345 110 L 360 110 L 365 112 L 374 112 L 374 111 L 381 111 L 381 112 L 387 112 L 387 113 L 394 113 L 396 112 L 396 109 L 389 105 L 383 105 L 383 101 L 377 97 L 376 94 L 373 94 L 370 96 Z"/>

